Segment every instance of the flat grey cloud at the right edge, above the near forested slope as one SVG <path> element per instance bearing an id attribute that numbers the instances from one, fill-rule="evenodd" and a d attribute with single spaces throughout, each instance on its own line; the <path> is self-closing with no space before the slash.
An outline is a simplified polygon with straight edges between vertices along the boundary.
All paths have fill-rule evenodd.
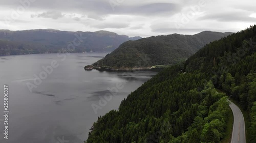
<path id="1" fill-rule="evenodd" d="M 249 17 L 248 12 L 208 14 L 200 17 L 199 20 L 217 20 L 222 22 L 255 22 L 256 18 Z"/>

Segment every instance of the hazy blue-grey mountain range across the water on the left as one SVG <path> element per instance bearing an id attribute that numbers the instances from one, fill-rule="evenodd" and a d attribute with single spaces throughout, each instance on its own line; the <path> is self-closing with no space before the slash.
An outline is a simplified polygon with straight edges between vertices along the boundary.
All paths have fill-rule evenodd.
<path id="1" fill-rule="evenodd" d="M 117 35 L 108 31 L 0 30 L 0 55 L 55 52 L 111 52 L 125 41 L 138 40 L 140 38 L 129 38 L 129 36 Z M 75 48 L 69 46 L 70 44 L 73 44 Z"/>

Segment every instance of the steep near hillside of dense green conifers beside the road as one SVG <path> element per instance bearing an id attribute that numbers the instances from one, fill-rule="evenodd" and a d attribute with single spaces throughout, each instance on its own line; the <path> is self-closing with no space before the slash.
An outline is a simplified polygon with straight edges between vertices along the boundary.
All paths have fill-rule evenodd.
<path id="1" fill-rule="evenodd" d="M 256 142 L 255 45 L 256 25 L 206 45 L 99 117 L 87 143 L 220 142 L 227 136 L 228 97 L 249 112 L 247 142 Z"/>

